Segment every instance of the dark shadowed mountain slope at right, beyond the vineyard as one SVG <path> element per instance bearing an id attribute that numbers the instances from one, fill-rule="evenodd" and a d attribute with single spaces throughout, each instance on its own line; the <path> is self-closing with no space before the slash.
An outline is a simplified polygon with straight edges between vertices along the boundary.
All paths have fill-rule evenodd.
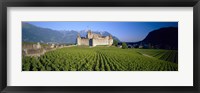
<path id="1" fill-rule="evenodd" d="M 151 31 L 142 42 L 160 49 L 178 49 L 178 27 Z"/>

